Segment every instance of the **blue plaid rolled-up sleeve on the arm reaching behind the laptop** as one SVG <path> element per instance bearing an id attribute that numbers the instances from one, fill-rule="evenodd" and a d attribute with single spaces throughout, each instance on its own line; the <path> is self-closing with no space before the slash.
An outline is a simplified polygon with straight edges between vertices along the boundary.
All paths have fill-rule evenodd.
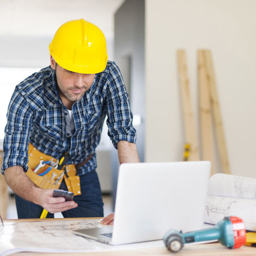
<path id="1" fill-rule="evenodd" d="M 126 87 L 116 63 L 113 63 L 107 84 L 107 126 L 108 135 L 117 148 L 120 140 L 136 142 L 136 130 L 132 126 L 133 115 Z"/>

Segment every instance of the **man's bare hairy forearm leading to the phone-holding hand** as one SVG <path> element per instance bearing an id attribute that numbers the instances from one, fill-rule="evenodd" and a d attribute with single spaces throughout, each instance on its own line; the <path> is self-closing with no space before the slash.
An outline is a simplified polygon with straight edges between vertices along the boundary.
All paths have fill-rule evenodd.
<path id="1" fill-rule="evenodd" d="M 29 179 L 21 166 L 12 166 L 5 169 L 5 180 L 18 196 L 30 202 L 38 203 L 37 191 L 42 189 Z"/>

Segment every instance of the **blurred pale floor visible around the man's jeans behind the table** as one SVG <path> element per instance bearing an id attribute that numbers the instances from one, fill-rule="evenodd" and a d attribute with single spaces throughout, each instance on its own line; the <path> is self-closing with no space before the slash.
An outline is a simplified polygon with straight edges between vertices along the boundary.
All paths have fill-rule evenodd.
<path id="1" fill-rule="evenodd" d="M 104 216 L 109 215 L 110 213 L 113 213 L 112 210 L 112 197 L 111 195 L 102 195 L 103 203 L 104 203 Z M 55 213 L 55 218 L 63 218 L 61 213 Z M 17 219 L 17 210 L 15 205 L 15 199 L 14 195 L 11 195 L 9 197 L 9 205 L 7 208 L 7 219 Z"/>

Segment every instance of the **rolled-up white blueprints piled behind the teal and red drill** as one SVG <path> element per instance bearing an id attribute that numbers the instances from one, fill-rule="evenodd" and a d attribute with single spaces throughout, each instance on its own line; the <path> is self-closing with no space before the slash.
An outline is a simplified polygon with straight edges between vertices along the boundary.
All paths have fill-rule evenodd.
<path id="1" fill-rule="evenodd" d="M 256 179 L 230 174 L 210 178 L 204 222 L 216 224 L 225 216 L 240 217 L 247 230 L 256 231 Z"/>

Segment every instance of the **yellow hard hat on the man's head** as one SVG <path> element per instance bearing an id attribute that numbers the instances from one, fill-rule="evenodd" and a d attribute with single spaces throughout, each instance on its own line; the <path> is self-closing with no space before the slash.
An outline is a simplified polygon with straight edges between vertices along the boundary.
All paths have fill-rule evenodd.
<path id="1" fill-rule="evenodd" d="M 101 29 L 84 20 L 61 25 L 49 45 L 50 54 L 62 68 L 95 74 L 106 68 L 106 39 Z"/>

